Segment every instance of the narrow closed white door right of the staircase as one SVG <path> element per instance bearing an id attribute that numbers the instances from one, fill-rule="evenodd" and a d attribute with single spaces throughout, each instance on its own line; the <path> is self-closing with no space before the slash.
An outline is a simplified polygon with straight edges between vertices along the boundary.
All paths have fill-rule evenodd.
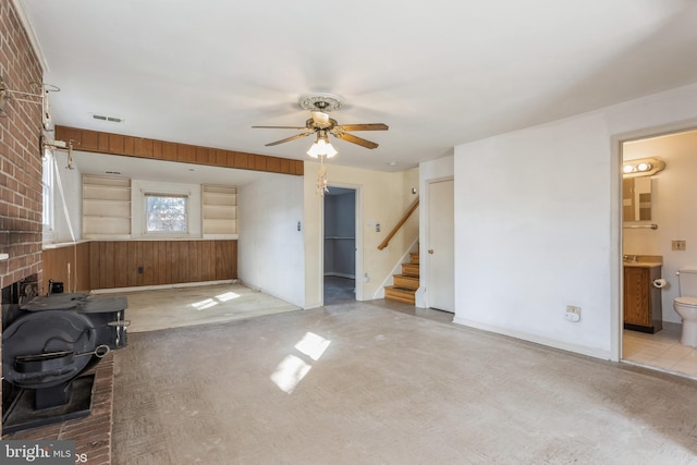
<path id="1" fill-rule="evenodd" d="M 453 180 L 428 184 L 428 306 L 455 311 L 455 219 Z"/>

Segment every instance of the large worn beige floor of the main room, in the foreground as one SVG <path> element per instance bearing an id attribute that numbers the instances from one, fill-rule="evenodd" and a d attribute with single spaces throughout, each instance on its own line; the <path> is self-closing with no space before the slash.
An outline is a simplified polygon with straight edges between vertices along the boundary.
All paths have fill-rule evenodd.
<path id="1" fill-rule="evenodd" d="M 113 463 L 697 463 L 696 381 L 418 316 L 442 320 L 374 301 L 132 334 Z"/>

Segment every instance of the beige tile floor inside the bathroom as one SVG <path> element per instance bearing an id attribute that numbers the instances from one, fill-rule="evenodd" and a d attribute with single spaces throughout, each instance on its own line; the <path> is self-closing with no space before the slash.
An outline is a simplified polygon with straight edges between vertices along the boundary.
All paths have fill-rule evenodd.
<path id="1" fill-rule="evenodd" d="M 624 362 L 697 379 L 697 347 L 680 343 L 680 325 L 648 334 L 624 330 Z"/>

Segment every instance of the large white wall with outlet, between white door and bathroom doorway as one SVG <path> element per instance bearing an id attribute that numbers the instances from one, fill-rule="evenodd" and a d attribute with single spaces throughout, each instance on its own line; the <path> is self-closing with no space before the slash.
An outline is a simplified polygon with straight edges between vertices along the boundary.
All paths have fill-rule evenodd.
<path id="1" fill-rule="evenodd" d="M 455 147 L 455 322 L 617 359 L 619 140 L 695 121 L 690 85 Z"/>

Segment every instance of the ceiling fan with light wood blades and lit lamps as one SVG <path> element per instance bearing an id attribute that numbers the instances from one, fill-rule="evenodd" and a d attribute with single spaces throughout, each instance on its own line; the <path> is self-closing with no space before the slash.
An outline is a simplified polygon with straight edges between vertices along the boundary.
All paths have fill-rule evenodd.
<path id="1" fill-rule="evenodd" d="M 304 110 L 309 110 L 311 117 L 305 122 L 304 126 L 252 126 L 255 129 L 303 131 L 294 136 L 266 144 L 266 147 L 307 137 L 313 134 L 317 134 L 317 143 L 328 144 L 327 135 L 331 134 L 341 140 L 346 140 L 365 148 L 377 148 L 378 144 L 350 133 L 352 131 L 389 130 L 389 126 L 382 123 L 339 124 L 337 120 L 329 117 L 329 112 L 338 110 L 343 105 L 343 98 L 333 94 L 306 95 L 301 97 L 298 103 Z"/>

